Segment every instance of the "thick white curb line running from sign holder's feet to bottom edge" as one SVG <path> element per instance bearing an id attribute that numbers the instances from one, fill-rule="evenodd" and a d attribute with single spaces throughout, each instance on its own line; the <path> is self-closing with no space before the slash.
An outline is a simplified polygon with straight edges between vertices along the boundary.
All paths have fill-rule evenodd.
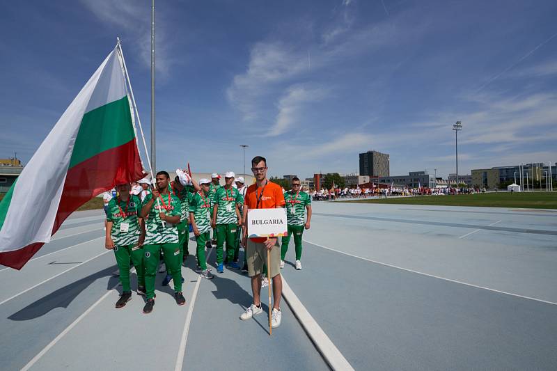
<path id="1" fill-rule="evenodd" d="M 354 370 L 352 365 L 350 365 L 343 354 L 340 353 L 338 348 L 334 345 L 331 339 L 329 339 L 329 336 L 327 336 L 321 326 L 317 324 L 317 321 L 313 319 L 304 304 L 301 303 L 288 283 L 286 283 L 284 277 L 283 297 L 329 366 L 331 366 L 333 370 Z"/>

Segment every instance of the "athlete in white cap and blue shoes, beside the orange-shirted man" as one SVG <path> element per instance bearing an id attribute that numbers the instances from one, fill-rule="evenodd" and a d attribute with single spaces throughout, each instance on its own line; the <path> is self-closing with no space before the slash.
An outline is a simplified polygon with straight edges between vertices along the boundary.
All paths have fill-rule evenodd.
<path id="1" fill-rule="evenodd" d="M 240 269 L 234 262 L 236 250 L 236 235 L 238 226 L 242 225 L 239 205 L 244 203 L 240 192 L 232 187 L 234 173 L 229 171 L 224 175 L 225 186 L 217 189 L 211 200 L 213 214 L 211 225 L 217 230 L 217 271 L 223 273 L 223 247 L 226 241 L 226 260 L 228 267 Z"/>

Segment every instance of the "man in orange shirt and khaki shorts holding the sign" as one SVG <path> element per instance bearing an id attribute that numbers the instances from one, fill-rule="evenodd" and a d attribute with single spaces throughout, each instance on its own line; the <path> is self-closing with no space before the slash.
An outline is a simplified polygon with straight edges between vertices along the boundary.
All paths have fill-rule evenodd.
<path id="1" fill-rule="evenodd" d="M 252 184 L 246 191 L 244 198 L 244 226 L 247 225 L 247 215 L 251 209 L 272 209 L 284 207 L 284 195 L 278 184 L 267 180 L 267 159 L 256 156 L 251 160 L 251 171 L 256 177 L 256 184 Z M 269 276 L 273 279 L 273 312 L 271 325 L 276 328 L 281 324 L 281 295 L 283 292 L 283 281 L 279 274 L 281 266 L 281 248 L 278 246 L 278 238 L 250 238 L 248 230 L 242 230 L 242 245 L 246 247 L 248 262 L 248 274 L 251 277 L 251 291 L 253 292 L 253 303 L 249 306 L 240 319 L 250 319 L 254 315 L 263 312 L 261 308 L 261 273 L 263 264 L 267 261 L 267 253 L 271 254 L 271 265 L 267 267 Z"/>

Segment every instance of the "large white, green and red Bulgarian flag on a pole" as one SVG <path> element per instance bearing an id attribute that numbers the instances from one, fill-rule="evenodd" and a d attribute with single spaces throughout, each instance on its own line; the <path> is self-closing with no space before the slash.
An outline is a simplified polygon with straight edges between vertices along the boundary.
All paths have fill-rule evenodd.
<path id="1" fill-rule="evenodd" d="M 143 177 L 117 46 L 0 202 L 0 264 L 21 269 L 79 206 Z"/>

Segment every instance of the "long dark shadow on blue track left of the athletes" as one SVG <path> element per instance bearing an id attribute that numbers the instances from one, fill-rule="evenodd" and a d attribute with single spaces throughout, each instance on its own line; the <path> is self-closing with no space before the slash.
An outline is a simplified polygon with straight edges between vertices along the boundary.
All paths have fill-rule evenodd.
<path id="1" fill-rule="evenodd" d="M 98 271 L 95 274 L 81 278 L 78 281 L 65 285 L 54 292 L 49 292 L 45 297 L 34 301 L 22 310 L 10 315 L 8 319 L 13 321 L 27 321 L 46 315 L 54 308 L 68 308 L 70 303 L 83 292 L 91 283 L 99 278 L 108 277 L 107 290 L 112 290 L 118 284 L 118 277 L 112 276 L 112 272 L 116 269 L 116 265 Z M 130 275 L 130 276 L 135 276 Z"/>

